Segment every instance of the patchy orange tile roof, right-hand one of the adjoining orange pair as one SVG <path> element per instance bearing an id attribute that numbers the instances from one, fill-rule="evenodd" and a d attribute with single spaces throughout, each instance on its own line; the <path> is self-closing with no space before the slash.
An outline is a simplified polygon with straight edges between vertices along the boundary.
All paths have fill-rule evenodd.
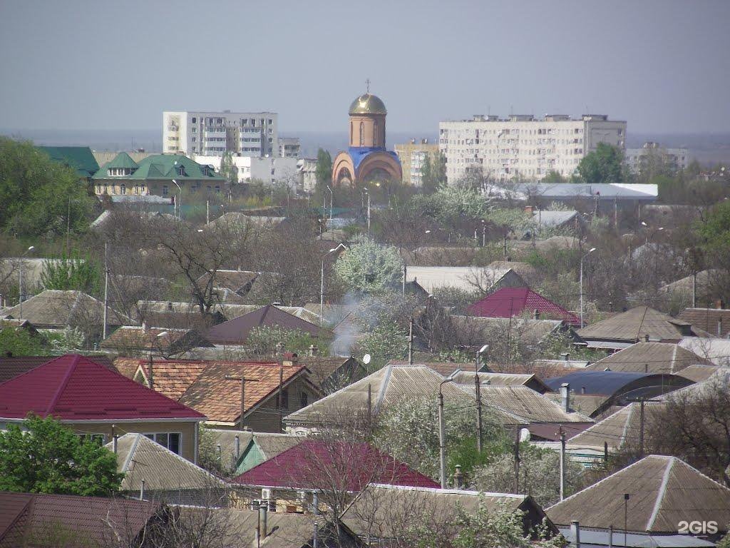
<path id="1" fill-rule="evenodd" d="M 302 365 L 283 366 L 283 384 L 305 375 Z M 241 415 L 241 384 L 226 375 L 258 378 L 246 383 L 245 412 L 251 411 L 279 389 L 280 366 L 275 363 L 212 362 L 185 391 L 180 403 L 206 415 L 210 421 L 236 422 Z"/>

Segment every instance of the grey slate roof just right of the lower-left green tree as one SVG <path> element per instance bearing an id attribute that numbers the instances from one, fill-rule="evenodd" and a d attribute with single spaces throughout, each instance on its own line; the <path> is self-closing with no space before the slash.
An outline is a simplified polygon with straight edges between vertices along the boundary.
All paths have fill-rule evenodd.
<path id="1" fill-rule="evenodd" d="M 112 451 L 113 442 L 106 445 Z M 117 471 L 124 474 L 122 491 L 207 490 L 226 482 L 174 454 L 144 434 L 125 434 L 117 440 Z"/>

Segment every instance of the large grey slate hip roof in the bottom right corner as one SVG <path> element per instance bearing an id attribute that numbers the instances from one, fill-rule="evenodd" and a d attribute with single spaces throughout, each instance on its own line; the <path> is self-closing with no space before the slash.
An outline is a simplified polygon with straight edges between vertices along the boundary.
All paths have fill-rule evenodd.
<path id="1" fill-rule="evenodd" d="M 629 493 L 629 531 L 677 533 L 679 524 L 717 522 L 727 529 L 730 489 L 704 476 L 677 457 L 652 454 L 608 476 L 546 511 L 556 525 L 623 528 L 624 498 Z"/>

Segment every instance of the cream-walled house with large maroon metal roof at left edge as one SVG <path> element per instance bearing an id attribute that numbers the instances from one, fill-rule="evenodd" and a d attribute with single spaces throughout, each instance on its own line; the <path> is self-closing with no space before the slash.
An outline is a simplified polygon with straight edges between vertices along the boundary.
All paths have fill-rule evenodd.
<path id="1" fill-rule="evenodd" d="M 79 354 L 50 359 L 0 384 L 0 423 L 28 414 L 54 416 L 78 432 L 111 441 L 143 433 L 196 459 L 198 422 L 205 416 Z"/>

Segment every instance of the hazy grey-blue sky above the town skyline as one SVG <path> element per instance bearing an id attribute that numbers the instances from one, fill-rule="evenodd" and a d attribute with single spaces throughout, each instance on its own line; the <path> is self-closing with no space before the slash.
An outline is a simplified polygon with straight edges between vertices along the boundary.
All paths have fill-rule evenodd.
<path id="1" fill-rule="evenodd" d="M 0 127 L 155 129 L 163 110 L 272 110 L 346 129 L 475 113 L 730 130 L 730 0 L 0 0 Z"/>

